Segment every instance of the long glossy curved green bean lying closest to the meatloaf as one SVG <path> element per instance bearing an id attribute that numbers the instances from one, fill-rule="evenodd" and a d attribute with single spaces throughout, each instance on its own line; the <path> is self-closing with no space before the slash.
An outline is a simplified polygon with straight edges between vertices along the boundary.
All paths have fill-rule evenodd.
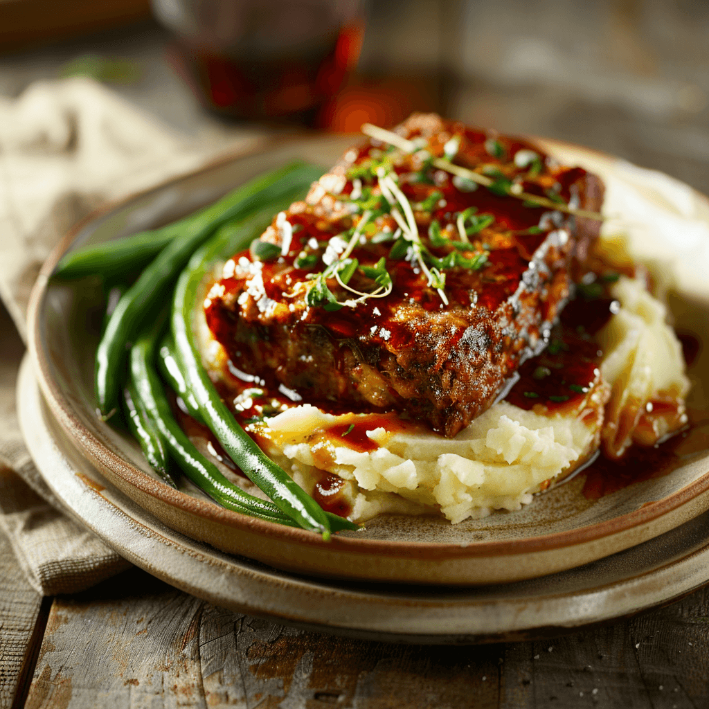
<path id="1" fill-rule="evenodd" d="M 180 275 L 175 287 L 172 308 L 172 336 L 175 358 L 188 389 L 199 404 L 201 418 L 217 437 L 224 450 L 244 474 L 259 486 L 281 510 L 303 528 L 322 532 L 329 539 L 328 518 L 318 503 L 272 462 L 236 422 L 220 399 L 206 370 L 202 367 L 194 339 L 192 313 L 204 274 L 216 257 L 233 254 L 245 246 L 271 212 L 248 220 L 242 228 L 220 230 L 206 245 L 195 252 Z"/>

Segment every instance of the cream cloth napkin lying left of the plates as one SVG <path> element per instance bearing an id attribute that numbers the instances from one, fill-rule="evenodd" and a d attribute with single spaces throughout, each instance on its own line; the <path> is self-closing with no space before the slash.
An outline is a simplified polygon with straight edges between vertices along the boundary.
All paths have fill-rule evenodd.
<path id="1" fill-rule="evenodd" d="M 0 96 L 0 297 L 22 340 L 30 289 L 48 253 L 92 209 L 260 142 L 213 131 L 187 140 L 90 79 Z M 70 519 L 35 468 L 15 411 L 23 352 L 0 313 L 0 528 L 45 595 L 89 588 L 129 566 Z"/>

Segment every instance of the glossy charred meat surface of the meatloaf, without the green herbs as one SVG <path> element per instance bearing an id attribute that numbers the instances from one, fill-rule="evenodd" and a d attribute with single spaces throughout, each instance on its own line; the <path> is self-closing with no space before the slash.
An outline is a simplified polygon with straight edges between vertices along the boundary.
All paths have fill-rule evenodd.
<path id="1" fill-rule="evenodd" d="M 471 169 L 483 164 L 488 171 L 517 179 L 527 192 L 556 190 L 572 206 L 600 211 L 603 184 L 598 177 L 547 160 L 540 147 L 522 138 L 468 128 L 435 114 L 415 114 L 395 130 L 420 139 L 435 156 L 458 135 L 457 164 Z M 491 139 L 502 146 L 506 159 L 489 155 L 486 143 Z M 235 255 L 230 274 L 208 298 L 207 322 L 236 367 L 269 384 L 284 384 L 305 401 L 323 408 L 398 411 L 453 436 L 491 406 L 525 359 L 543 349 L 572 283 L 584 273 L 600 224 L 525 206 L 484 188 L 461 191 L 441 171 L 429 173 L 435 184 L 414 182 L 421 155 L 395 151 L 393 169 L 412 203 L 434 190 L 444 195 L 445 203 L 437 203 L 432 213 L 416 214 L 422 239 L 432 218 L 442 226 L 455 223 L 457 213 L 468 206 L 495 217 L 475 236 L 481 247 L 489 248 L 486 267 L 448 271 L 446 305 L 413 259 L 390 259 L 391 243 L 370 240 L 355 247 L 352 256 L 360 264 L 386 257 L 391 294 L 336 312 L 308 306 L 305 293 L 311 281 L 294 260 L 308 239 L 323 245 L 352 226 L 353 182 L 347 173 L 381 155 L 385 147 L 370 140 L 347 150 L 313 184 L 305 201 L 286 211 L 286 220 L 294 225 L 288 255 L 272 262 L 255 261 L 248 251 Z M 510 163 L 519 150 L 540 155 L 544 162 L 539 174 L 530 177 Z M 387 226 L 396 228 L 384 216 L 377 228 Z M 527 233 L 537 226 L 540 233 Z M 280 243 L 275 218 L 263 238 Z M 342 300 L 347 298 L 344 291 L 338 293 L 335 281 L 331 287 Z"/>

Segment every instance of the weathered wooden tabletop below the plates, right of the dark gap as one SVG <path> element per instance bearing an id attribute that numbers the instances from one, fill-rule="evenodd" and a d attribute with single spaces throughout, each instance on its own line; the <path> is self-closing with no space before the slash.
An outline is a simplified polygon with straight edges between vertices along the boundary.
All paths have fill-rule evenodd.
<path id="1" fill-rule="evenodd" d="M 216 608 L 134 569 L 57 598 L 30 708 L 700 709 L 709 593 L 544 642 L 425 647 Z"/>

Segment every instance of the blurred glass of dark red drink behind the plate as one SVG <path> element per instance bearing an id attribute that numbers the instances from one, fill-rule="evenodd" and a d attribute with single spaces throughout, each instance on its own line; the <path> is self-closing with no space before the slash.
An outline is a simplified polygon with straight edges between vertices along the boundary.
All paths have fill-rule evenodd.
<path id="1" fill-rule="evenodd" d="M 314 125 L 362 43 L 356 0 L 153 0 L 191 83 L 234 118 Z"/>

